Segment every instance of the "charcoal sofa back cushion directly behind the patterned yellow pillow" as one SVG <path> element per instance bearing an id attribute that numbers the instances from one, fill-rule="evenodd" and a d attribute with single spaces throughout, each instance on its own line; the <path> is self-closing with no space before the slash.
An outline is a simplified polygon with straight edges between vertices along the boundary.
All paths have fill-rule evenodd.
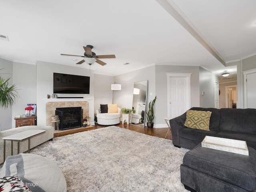
<path id="1" fill-rule="evenodd" d="M 220 110 L 216 108 L 202 108 L 202 107 L 192 107 L 190 110 L 197 110 L 197 111 L 210 111 L 212 112 L 210 118 L 210 130 L 216 129 L 219 130 L 220 125 Z"/>

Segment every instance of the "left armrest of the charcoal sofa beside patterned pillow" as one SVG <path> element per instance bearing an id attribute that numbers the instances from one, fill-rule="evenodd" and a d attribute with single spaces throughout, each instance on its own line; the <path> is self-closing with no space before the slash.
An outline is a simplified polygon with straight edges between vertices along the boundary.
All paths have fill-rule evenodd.
<path id="1" fill-rule="evenodd" d="M 184 123 L 186 121 L 186 113 L 173 118 L 170 120 L 170 127 L 172 129 L 172 143 L 175 146 L 180 146 L 180 129 L 184 128 Z"/>

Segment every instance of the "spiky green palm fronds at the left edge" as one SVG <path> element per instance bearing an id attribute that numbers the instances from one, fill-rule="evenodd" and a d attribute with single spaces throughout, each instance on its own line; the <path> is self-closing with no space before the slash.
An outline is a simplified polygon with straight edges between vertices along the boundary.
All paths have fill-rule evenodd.
<path id="1" fill-rule="evenodd" d="M 1 69 L 0 69 L 1 70 Z M 0 76 L 0 107 L 11 107 L 19 97 L 16 85 L 9 84 L 10 78 L 4 79 Z"/>

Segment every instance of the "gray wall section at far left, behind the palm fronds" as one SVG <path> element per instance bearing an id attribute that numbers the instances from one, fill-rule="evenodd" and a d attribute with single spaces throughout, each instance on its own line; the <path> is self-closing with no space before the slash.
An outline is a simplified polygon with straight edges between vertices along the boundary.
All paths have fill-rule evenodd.
<path id="1" fill-rule="evenodd" d="M 10 84 L 13 82 L 12 78 L 12 62 L 0 58 L 0 76 L 4 79 L 11 78 Z M 18 99 L 19 101 L 19 99 Z M 0 108 L 0 127 L 1 130 L 7 130 L 12 128 L 12 108 Z"/>

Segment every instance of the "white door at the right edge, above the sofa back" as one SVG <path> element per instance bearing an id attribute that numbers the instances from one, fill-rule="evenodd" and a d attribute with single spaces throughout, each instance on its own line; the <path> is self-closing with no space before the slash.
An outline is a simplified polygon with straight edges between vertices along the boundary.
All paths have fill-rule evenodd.
<path id="1" fill-rule="evenodd" d="M 246 75 L 247 108 L 256 108 L 256 73 Z"/>

